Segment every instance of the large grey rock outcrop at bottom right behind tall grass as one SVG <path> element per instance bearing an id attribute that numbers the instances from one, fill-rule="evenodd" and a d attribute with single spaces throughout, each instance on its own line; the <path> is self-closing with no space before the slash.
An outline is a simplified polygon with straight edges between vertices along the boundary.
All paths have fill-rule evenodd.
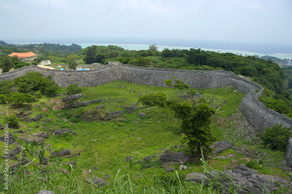
<path id="1" fill-rule="evenodd" d="M 239 194 L 245 194 L 245 193 L 255 193 L 255 194 L 262 194 L 262 193 L 270 193 L 272 191 L 277 191 L 277 185 L 273 183 L 275 180 L 279 182 L 286 183 L 286 181 L 283 178 L 275 176 L 266 176 L 265 174 L 257 174 L 255 170 L 249 169 L 245 165 L 240 165 L 235 167 L 235 169 L 232 170 L 225 170 L 223 173 L 219 174 L 217 171 L 209 171 L 209 177 L 210 179 L 214 179 L 215 177 L 211 174 L 220 177 L 224 176 L 225 174 L 228 175 L 228 177 L 221 178 L 219 182 L 223 184 L 223 188 L 220 187 L 220 193 L 227 193 L 230 186 L 233 186 L 235 189 L 235 184 L 240 184 L 243 188 L 239 187 L 236 193 Z M 202 181 L 204 177 L 207 177 L 207 174 L 203 174 L 202 172 L 197 173 L 190 173 L 187 175 L 187 180 L 189 182 L 196 182 L 199 183 Z M 271 182 L 272 181 L 272 182 Z M 285 182 L 286 181 L 286 182 Z M 231 185 L 230 185 L 231 183 Z M 208 179 L 204 179 L 204 184 L 206 186 L 209 186 Z M 216 185 L 213 185 L 214 188 L 216 188 Z"/>

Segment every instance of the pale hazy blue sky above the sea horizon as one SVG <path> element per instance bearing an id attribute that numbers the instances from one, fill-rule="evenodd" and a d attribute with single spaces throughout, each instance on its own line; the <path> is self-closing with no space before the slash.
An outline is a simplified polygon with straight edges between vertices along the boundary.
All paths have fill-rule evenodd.
<path id="1" fill-rule="evenodd" d="M 292 45 L 291 0 L 1 0 L 0 8 L 7 43 Z"/>

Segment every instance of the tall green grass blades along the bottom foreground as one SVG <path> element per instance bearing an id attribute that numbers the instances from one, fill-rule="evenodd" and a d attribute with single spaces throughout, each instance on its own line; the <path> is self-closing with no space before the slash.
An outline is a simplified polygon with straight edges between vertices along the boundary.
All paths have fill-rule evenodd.
<path id="1" fill-rule="evenodd" d="M 28 155 L 33 154 L 33 146 L 29 145 L 27 148 L 23 151 Z M 201 171 L 205 176 L 200 183 L 188 182 L 182 179 L 178 171 L 175 171 L 175 174 L 170 176 L 169 179 L 161 179 L 156 174 L 153 174 L 152 178 L 148 179 L 143 173 L 133 172 L 136 161 L 132 158 L 129 162 L 129 167 L 119 169 L 109 185 L 103 188 L 95 187 L 93 184 L 86 183 L 82 176 L 83 169 L 75 168 L 72 164 L 58 162 L 53 165 L 44 165 L 44 147 L 41 146 L 39 148 L 41 149 L 37 152 L 40 160 L 39 165 L 33 164 L 31 168 L 26 168 L 26 164 L 19 163 L 19 167 L 13 171 L 13 174 L 10 174 L 9 190 L 4 189 L 3 183 L 5 181 L 1 177 L 1 194 L 34 194 L 40 190 L 51 190 L 54 194 L 213 194 L 221 193 L 223 190 L 227 191 L 227 193 L 236 193 L 237 189 L 242 187 L 241 185 L 232 186 L 232 179 L 226 174 L 219 177 L 222 173 L 220 171 L 216 171 L 218 175 L 210 174 L 207 169 L 211 168 L 208 166 L 208 162 L 204 160 L 204 157 L 201 159 L 203 164 Z M 20 159 L 27 158 L 22 157 Z M 0 173 L 1 175 L 4 173 L 2 165 L 0 166 Z M 220 179 L 229 180 L 230 186 L 224 186 Z"/>

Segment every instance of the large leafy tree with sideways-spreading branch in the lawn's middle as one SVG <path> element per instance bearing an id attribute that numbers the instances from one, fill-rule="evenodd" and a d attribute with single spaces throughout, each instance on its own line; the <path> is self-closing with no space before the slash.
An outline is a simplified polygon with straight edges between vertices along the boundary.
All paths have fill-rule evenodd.
<path id="1" fill-rule="evenodd" d="M 209 127 L 211 116 L 215 110 L 207 103 L 195 104 L 190 101 L 181 103 L 178 100 L 168 100 L 166 94 L 148 94 L 142 95 L 138 102 L 148 106 L 167 107 L 174 111 L 175 117 L 182 120 L 181 128 L 188 139 L 189 148 L 194 151 L 197 149 L 197 155 L 201 154 L 200 148 L 205 147 L 211 151 L 211 146 L 215 141 Z"/>

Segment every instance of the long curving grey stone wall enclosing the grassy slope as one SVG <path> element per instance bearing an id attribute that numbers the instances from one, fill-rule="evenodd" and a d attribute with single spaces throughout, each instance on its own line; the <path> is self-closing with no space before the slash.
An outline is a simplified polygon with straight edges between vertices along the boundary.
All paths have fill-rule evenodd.
<path id="1" fill-rule="evenodd" d="M 119 62 L 109 62 L 108 65 L 94 70 L 73 71 L 43 69 L 37 66 L 22 67 L 18 70 L 0 74 L 0 81 L 15 79 L 25 75 L 29 71 L 38 71 L 44 76 L 51 75 L 53 80 L 60 87 L 67 87 L 72 83 L 79 83 L 80 86 L 102 85 L 114 80 L 125 80 L 137 84 L 165 86 L 165 79 L 176 77 L 189 84 L 191 88 L 208 89 L 233 86 L 245 94 L 239 106 L 240 111 L 248 121 L 258 130 L 263 131 L 265 127 L 271 127 L 278 123 L 287 127 L 292 126 L 292 120 L 285 115 L 268 109 L 258 100 L 263 93 L 263 87 L 251 82 L 243 76 L 234 73 L 219 71 L 197 71 L 197 70 L 174 70 L 135 67 L 124 65 Z M 256 90 L 258 92 L 256 93 Z M 291 145 L 292 146 L 292 145 Z M 291 153 L 292 154 L 292 153 Z M 291 156 L 290 156 L 291 160 Z"/>

